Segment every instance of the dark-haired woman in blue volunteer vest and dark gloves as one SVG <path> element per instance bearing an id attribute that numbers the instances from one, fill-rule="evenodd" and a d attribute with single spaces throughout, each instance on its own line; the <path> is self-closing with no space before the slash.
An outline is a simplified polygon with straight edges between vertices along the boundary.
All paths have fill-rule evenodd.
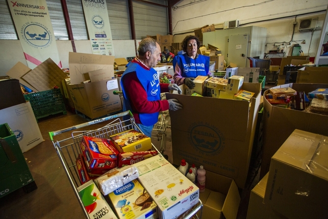
<path id="1" fill-rule="evenodd" d="M 206 76 L 209 72 L 209 57 L 197 53 L 199 39 L 189 35 L 182 41 L 182 52 L 173 59 L 174 83 L 185 84 L 189 89 L 195 87 L 194 79 L 198 75 Z"/>

